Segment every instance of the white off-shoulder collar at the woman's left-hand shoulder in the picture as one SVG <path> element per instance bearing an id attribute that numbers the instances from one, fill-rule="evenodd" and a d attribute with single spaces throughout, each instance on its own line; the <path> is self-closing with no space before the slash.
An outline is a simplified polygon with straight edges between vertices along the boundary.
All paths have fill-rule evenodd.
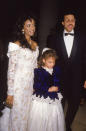
<path id="1" fill-rule="evenodd" d="M 15 43 L 13 43 L 13 42 L 9 42 L 7 56 L 9 57 L 10 54 L 18 51 L 19 48 L 20 48 L 19 45 L 15 44 Z"/>

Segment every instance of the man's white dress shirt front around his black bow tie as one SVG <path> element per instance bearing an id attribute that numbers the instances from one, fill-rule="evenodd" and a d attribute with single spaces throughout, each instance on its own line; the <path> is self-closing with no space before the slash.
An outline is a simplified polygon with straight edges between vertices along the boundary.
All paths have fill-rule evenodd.
<path id="1" fill-rule="evenodd" d="M 73 47 L 74 36 L 71 36 L 71 35 L 65 36 L 64 35 L 65 33 L 68 33 L 68 32 L 66 30 L 64 30 L 63 37 L 64 37 L 64 42 L 65 42 L 68 57 L 70 57 L 71 50 Z M 74 33 L 74 30 L 72 30 L 70 33 Z"/>

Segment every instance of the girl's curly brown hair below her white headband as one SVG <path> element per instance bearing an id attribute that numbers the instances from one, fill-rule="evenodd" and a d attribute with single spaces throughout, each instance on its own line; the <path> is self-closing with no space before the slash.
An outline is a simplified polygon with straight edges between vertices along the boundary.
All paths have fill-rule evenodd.
<path id="1" fill-rule="evenodd" d="M 38 67 L 44 66 L 43 59 L 47 59 L 49 57 L 54 57 L 55 59 L 58 59 L 58 56 L 56 55 L 56 51 L 53 49 L 46 50 L 45 52 L 42 53 L 38 60 Z"/>

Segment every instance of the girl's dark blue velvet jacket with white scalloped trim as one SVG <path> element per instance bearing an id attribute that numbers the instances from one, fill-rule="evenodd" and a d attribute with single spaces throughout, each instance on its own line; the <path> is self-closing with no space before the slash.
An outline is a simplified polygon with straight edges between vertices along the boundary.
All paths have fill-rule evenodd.
<path id="1" fill-rule="evenodd" d="M 48 92 L 48 89 L 51 86 L 58 86 L 60 85 L 60 69 L 59 67 L 53 68 L 52 75 L 47 72 L 44 68 L 36 68 L 34 70 L 34 93 L 36 96 L 44 97 L 44 98 L 51 98 L 51 99 L 58 99 L 57 92 Z M 59 92 L 59 91 L 58 91 Z"/>

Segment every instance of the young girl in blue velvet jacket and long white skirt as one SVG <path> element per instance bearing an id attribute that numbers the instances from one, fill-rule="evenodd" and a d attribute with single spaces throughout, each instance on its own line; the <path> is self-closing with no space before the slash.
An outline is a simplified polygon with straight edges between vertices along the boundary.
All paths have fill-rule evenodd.
<path id="1" fill-rule="evenodd" d="M 64 114 L 59 89 L 59 68 L 54 67 L 56 52 L 45 48 L 34 70 L 34 93 L 28 131 L 64 131 Z"/>

